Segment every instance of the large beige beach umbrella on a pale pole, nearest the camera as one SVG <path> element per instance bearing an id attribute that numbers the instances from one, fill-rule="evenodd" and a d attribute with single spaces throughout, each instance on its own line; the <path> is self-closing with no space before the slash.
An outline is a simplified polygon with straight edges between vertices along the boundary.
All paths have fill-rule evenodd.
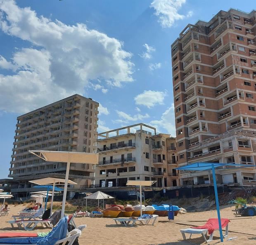
<path id="1" fill-rule="evenodd" d="M 50 162 L 62 162 L 66 164 L 66 177 L 63 191 L 62 199 L 62 212 L 61 218 L 64 217 L 65 213 L 65 203 L 66 203 L 66 192 L 68 188 L 69 181 L 69 168 L 70 163 L 88 163 L 88 164 L 98 164 L 99 154 L 97 153 L 85 153 L 85 152 L 57 152 L 57 151 L 29 151 L 45 161 Z"/>

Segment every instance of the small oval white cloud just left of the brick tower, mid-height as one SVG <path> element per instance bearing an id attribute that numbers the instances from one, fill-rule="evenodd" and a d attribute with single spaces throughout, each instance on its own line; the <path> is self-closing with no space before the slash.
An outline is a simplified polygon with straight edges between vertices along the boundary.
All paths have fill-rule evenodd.
<path id="1" fill-rule="evenodd" d="M 145 105 L 151 108 L 155 105 L 164 105 L 164 97 L 167 96 L 166 91 L 152 91 L 145 90 L 143 93 L 138 94 L 134 100 L 136 105 Z"/>

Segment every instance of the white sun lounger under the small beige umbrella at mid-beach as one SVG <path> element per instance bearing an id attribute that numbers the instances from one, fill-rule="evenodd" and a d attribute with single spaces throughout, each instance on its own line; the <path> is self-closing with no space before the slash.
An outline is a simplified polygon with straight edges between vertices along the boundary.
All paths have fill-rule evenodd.
<path id="1" fill-rule="evenodd" d="M 149 222 L 152 221 L 152 225 L 156 222 L 156 219 L 158 218 L 158 215 L 142 215 L 142 217 L 139 217 L 137 219 L 133 218 L 114 218 L 114 221 L 116 224 L 123 224 L 126 227 L 127 226 L 133 226 L 134 224 L 142 224 L 142 225 L 149 225 Z"/>

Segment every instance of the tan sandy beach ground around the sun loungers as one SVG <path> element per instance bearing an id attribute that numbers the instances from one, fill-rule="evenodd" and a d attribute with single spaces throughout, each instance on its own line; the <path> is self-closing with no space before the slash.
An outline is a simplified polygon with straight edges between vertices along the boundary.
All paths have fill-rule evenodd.
<path id="1" fill-rule="evenodd" d="M 7 223 L 12 219 L 12 215 L 16 215 L 24 205 L 9 205 L 10 214 L 0 217 L 0 231 L 20 230 L 12 229 Z M 209 244 L 256 244 L 256 217 L 235 217 L 232 209 L 234 206 L 225 206 L 221 209 L 221 217 L 230 219 L 229 238 L 237 237 L 235 240 L 220 242 L 218 231 L 215 231 L 214 240 Z M 133 227 L 117 226 L 111 218 L 75 218 L 77 225 L 87 224 L 87 228 L 83 230 L 79 238 L 79 244 L 138 244 L 138 245 L 189 245 L 189 244 L 205 244 L 201 235 L 192 235 L 192 239 L 184 241 L 180 233 L 180 229 L 189 228 L 191 226 L 203 225 L 208 218 L 216 217 L 216 211 L 192 212 L 184 215 L 178 215 L 174 221 L 168 221 L 167 217 L 159 217 L 154 226 L 135 225 Z M 49 229 L 38 228 L 32 232 L 49 231 Z"/>

